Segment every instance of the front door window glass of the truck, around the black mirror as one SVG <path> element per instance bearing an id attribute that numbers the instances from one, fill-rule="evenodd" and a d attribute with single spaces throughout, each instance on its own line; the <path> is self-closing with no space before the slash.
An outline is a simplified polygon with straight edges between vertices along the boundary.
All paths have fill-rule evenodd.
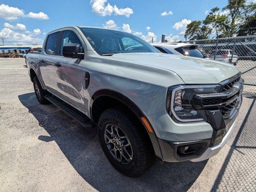
<path id="1" fill-rule="evenodd" d="M 66 30 L 63 32 L 62 40 L 61 40 L 61 46 L 60 46 L 60 54 L 62 55 L 62 49 L 63 46 L 66 44 L 75 43 L 80 45 L 80 53 L 84 52 L 83 46 L 81 41 L 79 40 L 78 36 L 75 34 L 75 32 L 71 30 Z"/>

